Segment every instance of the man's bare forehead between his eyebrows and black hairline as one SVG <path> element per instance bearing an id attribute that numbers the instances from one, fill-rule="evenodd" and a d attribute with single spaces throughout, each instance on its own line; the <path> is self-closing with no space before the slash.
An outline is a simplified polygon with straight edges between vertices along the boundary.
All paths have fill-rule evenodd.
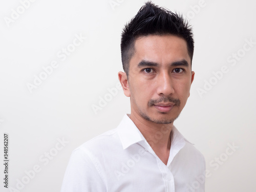
<path id="1" fill-rule="evenodd" d="M 135 40 L 134 49 L 131 65 L 136 65 L 140 60 L 150 60 L 160 64 L 186 60 L 191 65 L 185 39 L 175 35 L 139 37 Z"/>

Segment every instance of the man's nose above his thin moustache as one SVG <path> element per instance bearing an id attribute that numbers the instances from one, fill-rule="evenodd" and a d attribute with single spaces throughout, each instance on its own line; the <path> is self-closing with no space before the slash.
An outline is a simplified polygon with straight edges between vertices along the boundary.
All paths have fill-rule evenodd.
<path id="1" fill-rule="evenodd" d="M 157 93 L 160 96 L 169 96 L 174 93 L 172 78 L 168 72 L 159 73 Z"/>

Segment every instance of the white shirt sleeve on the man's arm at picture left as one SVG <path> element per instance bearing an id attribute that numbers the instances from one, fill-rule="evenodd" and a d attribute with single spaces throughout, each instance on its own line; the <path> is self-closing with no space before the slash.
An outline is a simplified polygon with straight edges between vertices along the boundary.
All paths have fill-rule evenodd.
<path id="1" fill-rule="evenodd" d="M 63 178 L 61 192 L 103 191 L 106 191 L 106 187 L 91 158 L 79 148 L 73 151 Z"/>

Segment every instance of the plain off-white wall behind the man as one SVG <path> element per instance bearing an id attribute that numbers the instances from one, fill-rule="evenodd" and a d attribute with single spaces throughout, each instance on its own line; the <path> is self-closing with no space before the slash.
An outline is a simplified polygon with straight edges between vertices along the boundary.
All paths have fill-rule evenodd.
<path id="1" fill-rule="evenodd" d="M 130 113 L 130 100 L 120 90 L 101 110 L 92 109 L 118 83 L 121 30 L 144 4 L 112 2 L 119 3 L 111 7 L 109 0 L 37 0 L 24 10 L 19 1 L 0 3 L 1 191 L 59 191 L 72 151 L 114 129 Z M 184 14 L 194 28 L 196 75 L 175 125 L 205 156 L 206 191 L 255 191 L 255 3 L 153 2 Z M 7 24 L 12 9 L 20 14 Z M 58 52 L 74 48 L 76 34 L 86 39 L 61 60 Z M 254 44 L 245 45 L 246 40 Z M 232 54 L 240 56 L 228 61 Z M 58 67 L 30 93 L 27 83 L 54 60 Z M 217 79 L 213 73 L 225 66 L 228 72 Z M 198 90 L 209 81 L 214 85 L 200 96 Z M 4 133 L 9 135 L 9 187 L 16 190 L 4 188 L 2 182 Z M 68 143 L 59 145 L 58 139 Z M 239 148 L 228 155 L 229 145 Z M 35 165 L 40 171 L 26 180 L 25 172 Z M 22 180 L 27 184 L 17 190 Z"/>

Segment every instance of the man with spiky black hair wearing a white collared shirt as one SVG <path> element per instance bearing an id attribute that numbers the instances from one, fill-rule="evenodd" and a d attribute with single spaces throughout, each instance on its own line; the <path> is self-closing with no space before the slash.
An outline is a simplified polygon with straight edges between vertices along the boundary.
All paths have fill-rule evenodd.
<path id="1" fill-rule="evenodd" d="M 204 191 L 205 160 L 173 125 L 193 82 L 193 34 L 178 14 L 147 2 L 121 38 L 131 114 L 72 154 L 62 192 Z"/>

